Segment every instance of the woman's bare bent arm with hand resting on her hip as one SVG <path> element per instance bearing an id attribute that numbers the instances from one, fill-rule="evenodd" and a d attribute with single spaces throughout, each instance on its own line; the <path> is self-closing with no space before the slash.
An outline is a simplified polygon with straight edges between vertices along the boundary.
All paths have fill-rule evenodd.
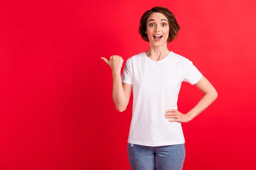
<path id="1" fill-rule="evenodd" d="M 180 113 L 175 109 L 167 110 L 165 114 L 166 119 L 175 118 L 169 120 L 169 122 L 189 122 L 208 108 L 208 106 L 212 104 L 215 99 L 217 99 L 217 91 L 204 76 L 202 76 L 202 78 L 195 83 L 195 86 L 204 93 L 204 97 L 202 97 L 198 104 L 186 114 Z"/>

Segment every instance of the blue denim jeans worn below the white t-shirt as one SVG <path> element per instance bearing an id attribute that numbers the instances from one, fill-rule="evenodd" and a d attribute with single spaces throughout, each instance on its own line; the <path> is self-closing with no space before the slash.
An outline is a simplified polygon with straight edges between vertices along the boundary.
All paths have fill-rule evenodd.
<path id="1" fill-rule="evenodd" d="M 185 144 L 168 146 L 127 146 L 132 170 L 182 170 L 185 159 Z"/>

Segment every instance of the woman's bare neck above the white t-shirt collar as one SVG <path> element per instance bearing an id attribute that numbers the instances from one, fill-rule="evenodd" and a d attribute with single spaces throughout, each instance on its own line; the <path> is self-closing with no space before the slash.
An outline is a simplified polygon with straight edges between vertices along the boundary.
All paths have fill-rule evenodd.
<path id="1" fill-rule="evenodd" d="M 148 51 L 146 51 L 146 55 L 155 61 L 165 58 L 169 53 L 170 51 L 166 45 L 162 45 L 160 47 L 150 47 Z"/>

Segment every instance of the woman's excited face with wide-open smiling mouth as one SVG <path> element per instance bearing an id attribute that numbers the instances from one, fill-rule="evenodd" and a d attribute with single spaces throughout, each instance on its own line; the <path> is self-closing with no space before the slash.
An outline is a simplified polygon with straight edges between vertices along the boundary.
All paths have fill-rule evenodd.
<path id="1" fill-rule="evenodd" d="M 150 45 L 162 46 L 167 45 L 169 37 L 169 23 L 164 14 L 160 12 L 152 13 L 147 20 L 147 35 Z"/>

